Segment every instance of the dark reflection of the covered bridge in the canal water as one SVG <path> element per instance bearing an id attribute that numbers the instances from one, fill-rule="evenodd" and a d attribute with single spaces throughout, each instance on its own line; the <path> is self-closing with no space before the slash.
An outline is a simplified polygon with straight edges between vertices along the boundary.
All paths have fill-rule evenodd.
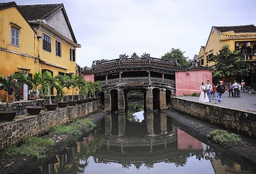
<path id="1" fill-rule="evenodd" d="M 124 167 L 145 163 L 174 162 L 178 150 L 177 128 L 167 125 L 168 117 L 158 113 L 145 115 L 142 122 L 131 122 L 125 113 L 105 116 L 105 133 L 95 162 L 117 162 Z M 138 135 L 139 134 L 139 135 Z"/>

